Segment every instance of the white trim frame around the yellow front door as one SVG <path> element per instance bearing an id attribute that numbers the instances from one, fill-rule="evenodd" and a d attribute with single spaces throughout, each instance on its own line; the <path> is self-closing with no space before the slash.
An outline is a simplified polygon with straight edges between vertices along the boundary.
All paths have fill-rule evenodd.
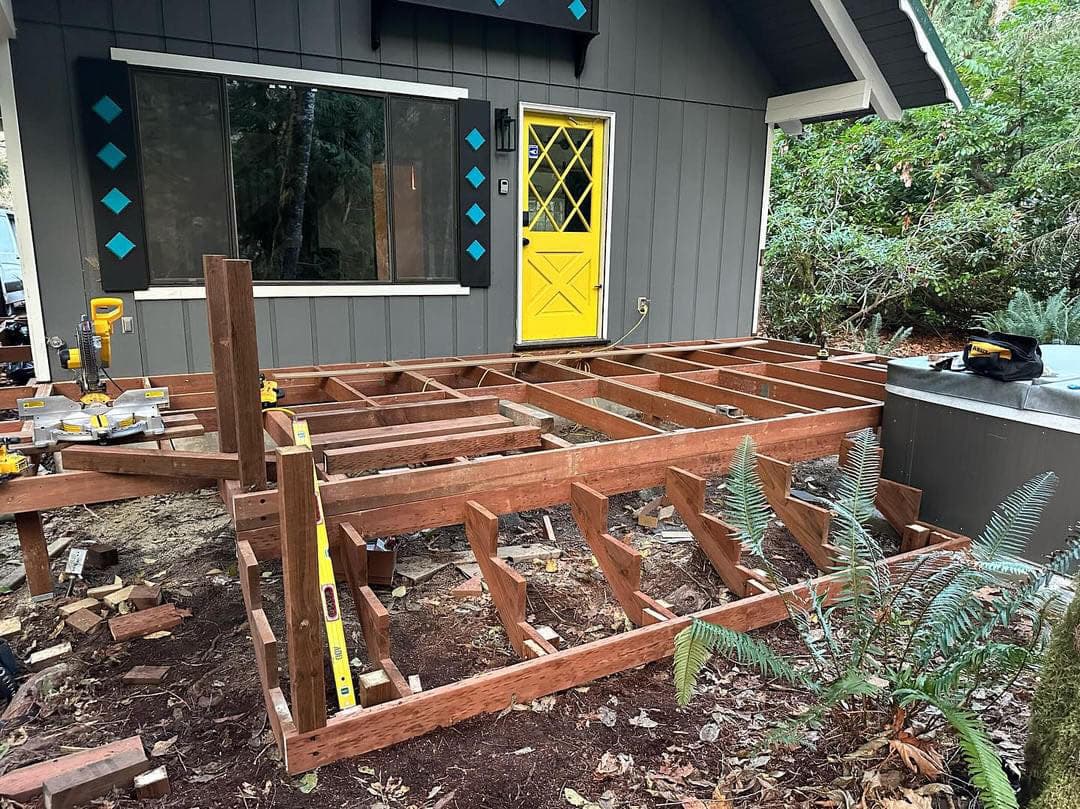
<path id="1" fill-rule="evenodd" d="M 525 179 L 525 166 L 528 160 L 528 137 L 525 130 L 526 112 L 549 112 L 559 116 L 581 116 L 582 118 L 602 119 L 604 121 L 604 199 L 600 201 L 600 215 L 604 217 L 604 232 L 600 234 L 600 284 L 604 294 L 600 296 L 599 323 L 596 324 L 596 339 L 606 340 L 608 338 L 608 288 L 610 286 L 610 262 L 611 262 L 611 191 L 615 185 L 615 112 L 610 110 L 586 109 L 583 107 L 563 107 L 551 104 L 534 104 L 532 102 L 518 102 L 517 104 L 517 151 L 521 153 L 517 163 L 517 197 L 514 200 L 514 216 L 517 218 L 517 325 L 515 340 L 517 345 L 525 345 L 522 339 L 522 292 L 523 267 L 522 262 L 522 238 L 524 223 L 522 221 L 522 197 L 524 189 L 521 183 Z M 532 340 L 529 345 L 551 342 L 551 340 Z M 564 342 L 559 340 L 558 342 Z"/>

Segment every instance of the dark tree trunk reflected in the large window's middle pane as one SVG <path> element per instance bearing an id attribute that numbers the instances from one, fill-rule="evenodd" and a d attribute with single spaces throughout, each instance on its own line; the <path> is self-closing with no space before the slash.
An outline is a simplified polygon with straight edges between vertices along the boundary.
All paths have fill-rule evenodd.
<path id="1" fill-rule="evenodd" d="M 295 281 L 303 243 L 303 206 L 308 195 L 308 170 L 311 165 L 311 141 L 315 130 L 315 90 L 297 89 L 293 96 L 293 113 L 285 132 L 286 148 L 278 200 L 278 226 L 274 228 L 271 266 L 278 278 Z"/>

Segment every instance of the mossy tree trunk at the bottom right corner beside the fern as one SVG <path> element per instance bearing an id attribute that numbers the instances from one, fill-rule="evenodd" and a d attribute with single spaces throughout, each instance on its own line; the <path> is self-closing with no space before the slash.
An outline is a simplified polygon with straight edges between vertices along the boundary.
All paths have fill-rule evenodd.
<path id="1" fill-rule="evenodd" d="M 1080 584 L 1080 579 L 1078 579 Z M 1080 595 L 1054 628 L 1031 703 L 1024 792 L 1028 809 L 1067 809 L 1080 795 Z"/>

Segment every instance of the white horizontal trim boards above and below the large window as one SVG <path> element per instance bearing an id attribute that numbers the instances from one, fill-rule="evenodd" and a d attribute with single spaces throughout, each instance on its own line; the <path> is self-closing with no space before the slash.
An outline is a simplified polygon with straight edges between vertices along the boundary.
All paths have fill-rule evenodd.
<path id="1" fill-rule="evenodd" d="M 247 62 L 230 62 L 203 56 L 184 56 L 158 51 L 136 51 L 113 48 L 110 56 L 117 62 L 126 62 L 138 67 L 184 70 L 195 73 L 213 73 L 242 79 L 262 79 L 292 84 L 312 84 L 341 90 L 359 90 L 372 93 L 411 95 L 424 98 L 456 100 L 468 98 L 465 87 L 443 84 L 423 84 L 411 81 L 395 81 L 369 76 L 347 76 L 323 70 L 303 70 L 276 65 L 256 65 Z M 471 288 L 459 284 L 256 284 L 256 298 L 367 298 L 394 296 L 447 296 L 469 295 Z M 137 289 L 135 300 L 198 300 L 206 297 L 202 286 L 151 286 Z"/>

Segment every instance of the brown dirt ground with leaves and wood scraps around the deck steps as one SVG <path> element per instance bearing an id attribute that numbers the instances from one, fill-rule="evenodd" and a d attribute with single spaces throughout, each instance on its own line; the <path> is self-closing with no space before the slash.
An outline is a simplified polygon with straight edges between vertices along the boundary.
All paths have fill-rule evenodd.
<path id="1" fill-rule="evenodd" d="M 800 464 L 797 481 L 814 494 L 828 494 L 835 459 Z M 728 592 L 692 543 L 664 541 L 663 531 L 684 529 L 677 520 L 657 529 L 637 525 L 632 510 L 658 491 L 611 498 L 611 534 L 629 536 L 645 556 L 643 590 L 670 601 L 677 612 L 727 601 Z M 714 482 L 711 508 L 720 497 Z M 503 517 L 500 542 L 546 543 L 544 513 L 562 555 L 554 563 L 516 565 L 529 581 L 529 620 L 551 625 L 568 645 L 625 631 L 625 618 L 568 509 Z M 770 729 L 799 711 L 806 695 L 724 660 L 710 665 L 701 693 L 685 710 L 675 703 L 671 662 L 664 661 L 291 778 L 269 731 L 237 580 L 234 537 L 216 495 L 205 490 L 64 509 L 46 517 L 45 530 L 50 539 L 68 532 L 77 542 L 118 547 L 119 565 L 89 571 L 90 585 L 113 576 L 125 583 L 157 582 L 164 601 L 192 614 L 165 637 L 118 644 L 104 623 L 90 635 L 66 626 L 57 612 L 63 599 L 31 605 L 25 589 L 0 596 L 0 617 L 22 619 L 22 633 L 10 638 L 22 658 L 62 641 L 75 647 L 56 690 L 0 730 L 0 771 L 141 734 L 154 759 L 167 766 L 173 794 L 154 801 L 117 795 L 103 807 L 811 807 L 845 806 L 845 795 L 858 800 L 868 788 L 896 791 L 902 783 L 933 795 L 935 806 L 974 806 L 960 781 L 927 787 L 896 767 L 879 766 L 886 757 L 880 750 L 850 755 L 842 728 L 823 728 L 815 752 L 757 750 Z M 895 541 L 886 534 L 883 542 Z M 788 579 L 812 575 L 782 526 L 773 526 L 768 545 Z M 460 528 L 446 528 L 401 538 L 399 552 L 404 561 L 467 548 Z M 17 559 L 17 553 L 13 525 L 0 525 L 0 561 Z M 63 556 L 54 572 L 62 569 Z M 429 581 L 406 582 L 400 597 L 390 589 L 378 591 L 391 611 L 393 658 L 426 688 L 515 660 L 489 597 L 449 596 L 463 579 L 450 566 Z M 82 588 L 77 585 L 76 597 Z M 262 589 L 271 624 L 283 638 L 279 566 L 264 567 Z M 363 671 L 363 636 L 343 588 L 341 598 L 355 674 Z M 760 634 L 797 650 L 786 628 Z M 280 657 L 284 665 L 284 649 Z M 159 686 L 122 685 L 121 675 L 134 665 L 171 670 Z M 984 706 L 984 718 L 1014 758 L 1030 686 L 1022 682 L 1002 704 Z M 876 786 L 867 785 L 867 773 Z"/>

